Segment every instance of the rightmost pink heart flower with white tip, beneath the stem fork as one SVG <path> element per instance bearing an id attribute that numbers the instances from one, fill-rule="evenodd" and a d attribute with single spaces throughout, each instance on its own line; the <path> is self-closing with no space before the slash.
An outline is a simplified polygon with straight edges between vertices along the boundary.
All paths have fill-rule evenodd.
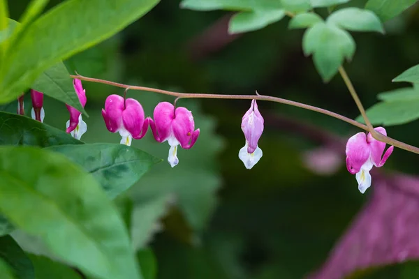
<path id="1" fill-rule="evenodd" d="M 378 133 L 387 135 L 385 128 L 374 128 Z M 358 189 L 363 194 L 371 186 L 371 174 L 373 166 L 382 167 L 391 155 L 394 146 L 390 146 L 384 152 L 385 142 L 380 142 L 371 133 L 358 133 L 349 138 L 346 143 L 346 168 L 351 174 L 355 174 L 358 181 Z"/>

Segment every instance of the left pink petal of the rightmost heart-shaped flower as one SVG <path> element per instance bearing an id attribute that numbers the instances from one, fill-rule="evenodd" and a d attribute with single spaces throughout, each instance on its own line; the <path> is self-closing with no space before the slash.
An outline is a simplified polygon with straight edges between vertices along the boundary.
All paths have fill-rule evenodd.
<path id="1" fill-rule="evenodd" d="M 358 133 L 349 138 L 346 143 L 346 168 L 351 174 L 360 171 L 362 165 L 369 159 L 371 147 L 367 143 L 367 135 Z"/>

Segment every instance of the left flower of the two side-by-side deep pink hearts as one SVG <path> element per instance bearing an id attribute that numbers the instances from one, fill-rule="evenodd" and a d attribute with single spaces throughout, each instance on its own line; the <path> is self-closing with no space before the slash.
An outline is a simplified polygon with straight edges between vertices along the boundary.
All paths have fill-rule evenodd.
<path id="1" fill-rule="evenodd" d="M 149 119 L 145 119 L 144 110 L 138 100 L 110 95 L 105 100 L 102 116 L 106 128 L 112 133 L 119 132 L 121 144 L 131 146 L 133 138 L 140 140 L 147 133 Z"/>

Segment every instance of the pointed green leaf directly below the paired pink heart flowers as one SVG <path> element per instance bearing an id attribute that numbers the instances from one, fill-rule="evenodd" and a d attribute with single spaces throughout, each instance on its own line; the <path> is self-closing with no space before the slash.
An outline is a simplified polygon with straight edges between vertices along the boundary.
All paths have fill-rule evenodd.
<path id="1" fill-rule="evenodd" d="M 117 197 L 133 186 L 150 167 L 161 162 L 149 153 L 123 144 L 81 144 L 51 146 L 63 153 L 101 183 L 108 197 Z"/>

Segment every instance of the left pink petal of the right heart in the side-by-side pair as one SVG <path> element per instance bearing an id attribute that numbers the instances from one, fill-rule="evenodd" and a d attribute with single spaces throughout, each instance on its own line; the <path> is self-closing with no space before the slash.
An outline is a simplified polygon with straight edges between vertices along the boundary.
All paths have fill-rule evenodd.
<path id="1" fill-rule="evenodd" d="M 175 118 L 175 107 L 168 102 L 161 102 L 154 108 L 154 121 L 150 121 L 154 139 L 164 142 L 172 134 L 172 121 Z"/>

